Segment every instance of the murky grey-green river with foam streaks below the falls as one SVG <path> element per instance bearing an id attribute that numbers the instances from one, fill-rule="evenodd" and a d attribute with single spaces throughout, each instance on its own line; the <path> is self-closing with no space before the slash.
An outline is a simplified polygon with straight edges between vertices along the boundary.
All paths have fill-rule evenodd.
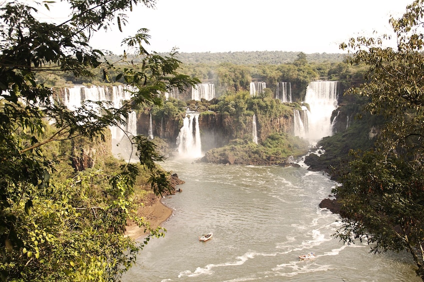
<path id="1" fill-rule="evenodd" d="M 322 172 L 184 159 L 162 167 L 185 184 L 163 200 L 173 210 L 165 237 L 150 240 L 125 282 L 421 281 L 408 254 L 374 255 L 331 236 L 338 217 L 318 204 L 336 183 Z M 315 258 L 298 259 L 311 251 Z"/>

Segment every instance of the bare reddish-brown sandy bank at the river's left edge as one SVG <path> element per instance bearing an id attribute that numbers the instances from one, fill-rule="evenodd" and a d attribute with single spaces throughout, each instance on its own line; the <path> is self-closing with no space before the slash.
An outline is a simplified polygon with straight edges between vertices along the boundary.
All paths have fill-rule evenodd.
<path id="1" fill-rule="evenodd" d="M 143 207 L 138 209 L 140 216 L 150 224 L 152 229 L 161 226 L 167 219 L 172 216 L 172 209 L 162 203 L 162 198 L 152 194 L 154 198 L 151 198 L 148 204 L 144 204 Z M 126 226 L 125 235 L 137 240 L 145 236 L 147 232 L 144 232 L 144 227 L 139 228 L 136 224 Z"/>

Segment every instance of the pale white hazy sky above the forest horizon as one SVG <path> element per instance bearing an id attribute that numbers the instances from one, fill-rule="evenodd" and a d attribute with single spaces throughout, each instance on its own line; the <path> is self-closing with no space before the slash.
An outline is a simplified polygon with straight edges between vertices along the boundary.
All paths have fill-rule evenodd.
<path id="1" fill-rule="evenodd" d="M 128 23 L 91 41 L 95 48 L 123 51 L 123 38 L 139 28 L 151 35 L 148 51 L 343 52 L 339 43 L 358 35 L 390 31 L 412 0 L 157 0 L 156 8 L 137 6 Z"/>

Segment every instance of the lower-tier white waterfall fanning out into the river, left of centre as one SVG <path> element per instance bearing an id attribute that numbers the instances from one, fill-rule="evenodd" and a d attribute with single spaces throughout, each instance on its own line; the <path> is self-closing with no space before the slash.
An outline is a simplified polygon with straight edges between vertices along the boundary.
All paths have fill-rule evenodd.
<path id="1" fill-rule="evenodd" d="M 198 125 L 199 113 L 187 112 L 183 120 L 176 145 L 181 156 L 190 158 L 201 157 L 200 130 Z"/>

